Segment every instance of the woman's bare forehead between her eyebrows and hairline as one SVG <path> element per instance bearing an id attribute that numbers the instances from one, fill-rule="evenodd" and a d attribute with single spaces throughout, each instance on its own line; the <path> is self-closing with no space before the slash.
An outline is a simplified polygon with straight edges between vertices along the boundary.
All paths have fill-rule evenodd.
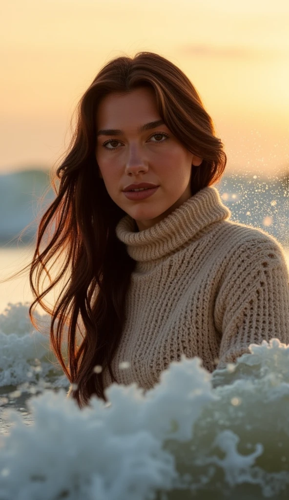
<path id="1" fill-rule="evenodd" d="M 98 128 L 125 128 L 159 118 L 153 89 L 141 87 L 125 93 L 110 93 L 96 112 Z"/>

